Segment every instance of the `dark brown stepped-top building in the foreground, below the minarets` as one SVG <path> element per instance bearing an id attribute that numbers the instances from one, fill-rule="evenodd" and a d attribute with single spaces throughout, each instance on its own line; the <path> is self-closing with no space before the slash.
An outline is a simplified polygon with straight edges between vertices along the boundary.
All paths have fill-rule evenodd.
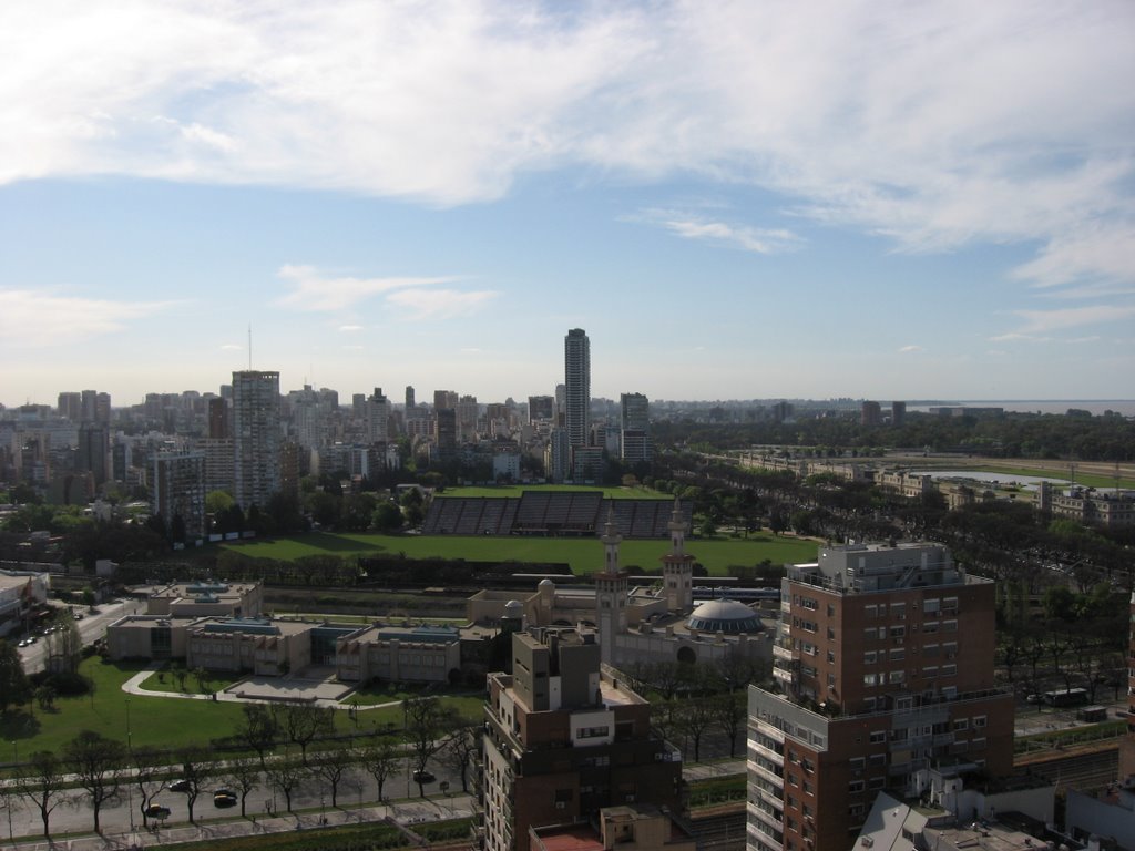
<path id="1" fill-rule="evenodd" d="M 513 673 L 488 677 L 481 797 L 486 851 L 530 851 L 530 831 L 639 801 L 680 811 L 681 755 L 649 703 L 603 666 L 594 634 L 512 637 Z"/>

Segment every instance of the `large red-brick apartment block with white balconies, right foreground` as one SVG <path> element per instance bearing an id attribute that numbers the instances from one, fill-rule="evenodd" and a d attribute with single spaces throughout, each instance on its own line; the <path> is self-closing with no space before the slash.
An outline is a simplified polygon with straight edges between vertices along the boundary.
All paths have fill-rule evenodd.
<path id="1" fill-rule="evenodd" d="M 880 790 L 1012 769 L 994 585 L 939 545 L 824 547 L 781 585 L 780 693 L 749 689 L 748 848 L 840 851 Z"/>

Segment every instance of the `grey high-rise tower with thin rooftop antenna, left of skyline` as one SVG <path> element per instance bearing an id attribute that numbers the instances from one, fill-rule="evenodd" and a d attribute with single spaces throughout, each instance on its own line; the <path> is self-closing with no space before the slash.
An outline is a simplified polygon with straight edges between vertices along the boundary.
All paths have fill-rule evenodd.
<path id="1" fill-rule="evenodd" d="M 246 512 L 264 508 L 280 488 L 280 373 L 233 373 L 233 479 Z"/>

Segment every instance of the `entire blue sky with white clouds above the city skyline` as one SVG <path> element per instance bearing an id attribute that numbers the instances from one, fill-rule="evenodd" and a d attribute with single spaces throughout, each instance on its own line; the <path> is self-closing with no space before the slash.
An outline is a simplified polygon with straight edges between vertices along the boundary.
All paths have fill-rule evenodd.
<path id="1" fill-rule="evenodd" d="M 571 328 L 608 398 L 1132 398 L 1133 44 L 1129 0 L 8 0 L 0 403 L 520 401 Z"/>

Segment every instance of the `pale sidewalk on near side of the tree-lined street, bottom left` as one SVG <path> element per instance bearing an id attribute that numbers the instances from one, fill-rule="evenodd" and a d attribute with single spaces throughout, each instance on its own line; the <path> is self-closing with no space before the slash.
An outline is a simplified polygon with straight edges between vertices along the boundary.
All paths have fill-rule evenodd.
<path id="1" fill-rule="evenodd" d="M 251 807 L 250 807 L 251 810 Z M 151 848 L 178 842 L 208 842 L 232 836 L 252 836 L 267 833 L 284 833 L 312 829 L 335 825 L 354 825 L 365 821 L 381 821 L 390 818 L 395 823 L 413 829 L 415 824 L 430 824 L 451 818 L 465 818 L 473 812 L 473 799 L 468 794 L 437 798 L 412 798 L 386 804 L 340 807 L 339 809 L 304 810 L 295 814 L 276 812 L 272 816 L 253 814 L 247 818 L 197 819 L 195 825 L 178 823 L 158 829 L 138 827 L 134 833 L 106 832 L 73 839 L 57 839 L 48 842 L 39 839 L 16 839 L 22 851 L 106 851 L 106 849 Z M 6 843 L 7 844 L 7 843 Z"/>

